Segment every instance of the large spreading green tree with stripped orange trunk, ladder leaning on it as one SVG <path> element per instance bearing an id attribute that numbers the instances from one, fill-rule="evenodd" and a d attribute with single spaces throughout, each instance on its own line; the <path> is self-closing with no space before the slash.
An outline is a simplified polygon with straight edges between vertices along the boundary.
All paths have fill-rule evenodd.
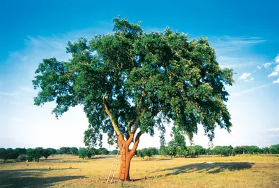
<path id="1" fill-rule="evenodd" d="M 36 105 L 55 101 L 57 117 L 82 105 L 89 119 L 91 143 L 107 133 L 108 143 L 124 147 L 119 179 L 130 179 L 130 160 L 140 136 L 165 132 L 163 120 L 186 133 L 190 140 L 197 124 L 210 140 L 216 125 L 232 126 L 225 101 L 225 85 L 232 85 L 232 70 L 220 68 L 207 38 L 188 40 L 167 28 L 145 33 L 140 22 L 113 19 L 114 32 L 91 41 L 68 42 L 68 62 L 43 59 L 33 85 L 40 89 Z M 134 142 L 133 147 L 129 146 Z"/>

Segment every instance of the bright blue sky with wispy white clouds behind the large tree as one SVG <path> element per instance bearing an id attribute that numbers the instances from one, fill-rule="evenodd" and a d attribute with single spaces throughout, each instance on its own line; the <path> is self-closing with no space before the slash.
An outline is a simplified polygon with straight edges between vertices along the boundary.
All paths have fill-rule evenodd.
<path id="1" fill-rule="evenodd" d="M 33 106 L 37 91 L 31 80 L 42 59 L 70 58 L 68 40 L 111 33 L 117 15 L 142 21 L 145 31 L 169 26 L 189 38 L 209 37 L 220 66 L 234 68 L 236 83 L 227 87 L 232 133 L 216 129 L 214 145 L 278 144 L 278 6 L 276 1 L 1 1 L 0 147 L 84 146 L 88 122 L 82 107 L 56 120 L 53 103 Z M 199 128 L 195 144 L 206 147 Z M 142 137 L 139 147 L 160 145 L 157 135 Z"/>

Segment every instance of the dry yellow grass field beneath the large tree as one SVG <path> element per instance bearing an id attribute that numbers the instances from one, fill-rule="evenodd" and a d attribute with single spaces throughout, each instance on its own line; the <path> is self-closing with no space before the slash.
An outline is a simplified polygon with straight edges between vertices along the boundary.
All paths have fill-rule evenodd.
<path id="1" fill-rule="evenodd" d="M 113 156 L 56 155 L 40 162 L 0 164 L 0 187 L 279 187 L 279 157 L 134 157 L 132 182 L 106 185 Z M 214 162 L 214 164 L 204 164 Z"/>

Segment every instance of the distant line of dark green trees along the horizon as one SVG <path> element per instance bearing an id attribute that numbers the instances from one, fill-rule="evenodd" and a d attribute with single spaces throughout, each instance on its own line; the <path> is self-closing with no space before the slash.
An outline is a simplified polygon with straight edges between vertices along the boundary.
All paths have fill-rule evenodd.
<path id="1" fill-rule="evenodd" d="M 279 154 L 279 144 L 271 145 L 271 147 L 257 147 L 256 145 L 241 145 L 232 147 L 229 146 L 216 146 L 212 148 L 204 148 L 201 145 L 186 146 L 183 140 L 177 137 L 170 141 L 167 145 L 161 145 L 160 148 L 148 147 L 137 150 L 135 155 L 144 159 L 154 155 L 163 155 L 165 157 L 198 157 L 199 155 L 219 155 L 219 156 L 235 156 L 237 154 Z M 97 154 L 112 154 L 116 155 L 118 150 L 109 151 L 105 147 L 98 149 L 93 147 L 61 147 L 56 150 L 54 148 L 44 149 L 43 147 L 29 148 L 0 148 L 0 159 L 4 162 L 8 159 L 16 161 L 39 161 L 40 158 L 50 157 L 54 154 L 73 154 L 78 155 L 80 158 L 91 158 Z"/>

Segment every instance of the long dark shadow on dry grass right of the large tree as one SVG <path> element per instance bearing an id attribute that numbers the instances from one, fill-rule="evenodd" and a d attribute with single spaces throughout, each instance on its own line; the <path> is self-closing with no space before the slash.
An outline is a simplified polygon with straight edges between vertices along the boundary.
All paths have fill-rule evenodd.
<path id="1" fill-rule="evenodd" d="M 221 173 L 223 171 L 241 171 L 244 169 L 252 168 L 252 166 L 255 163 L 248 163 L 248 162 L 230 162 L 230 163 L 213 163 L 213 164 L 188 164 L 184 166 L 177 166 L 174 168 L 165 168 L 160 171 L 154 171 L 156 172 L 163 172 L 163 171 L 171 171 L 165 175 L 159 175 L 159 177 L 162 176 L 168 176 L 168 175 L 179 175 L 181 173 Z M 158 177 L 158 176 L 157 176 Z"/>

